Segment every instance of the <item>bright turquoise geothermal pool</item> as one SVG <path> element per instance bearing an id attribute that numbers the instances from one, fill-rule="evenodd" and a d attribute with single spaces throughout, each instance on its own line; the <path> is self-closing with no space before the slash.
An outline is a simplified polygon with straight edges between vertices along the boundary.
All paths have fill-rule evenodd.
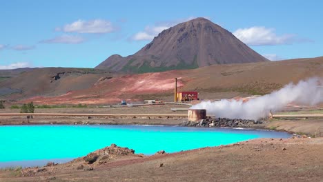
<path id="1" fill-rule="evenodd" d="M 0 168 L 66 162 L 111 143 L 137 154 L 155 154 L 290 136 L 267 130 L 152 125 L 6 125 L 0 126 Z"/>

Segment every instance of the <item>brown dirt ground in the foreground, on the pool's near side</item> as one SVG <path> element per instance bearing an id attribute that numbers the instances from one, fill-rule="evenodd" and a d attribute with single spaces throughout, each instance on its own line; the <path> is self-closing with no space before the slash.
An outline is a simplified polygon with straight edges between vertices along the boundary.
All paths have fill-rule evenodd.
<path id="1" fill-rule="evenodd" d="M 46 167 L 21 177 L 0 172 L 2 181 L 323 181 L 323 138 L 256 139 L 174 154 L 111 161 L 77 170 Z M 69 166 L 68 166 L 69 165 Z M 14 176 L 17 175 L 17 176 Z"/>

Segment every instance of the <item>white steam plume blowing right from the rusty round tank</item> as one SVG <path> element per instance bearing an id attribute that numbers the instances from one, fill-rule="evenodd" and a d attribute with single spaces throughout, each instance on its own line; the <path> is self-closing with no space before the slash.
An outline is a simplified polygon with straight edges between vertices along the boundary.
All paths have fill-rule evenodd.
<path id="1" fill-rule="evenodd" d="M 260 119 L 268 116 L 269 112 L 282 110 L 289 103 L 301 105 L 316 105 L 323 101 L 323 79 L 311 78 L 300 81 L 297 85 L 289 83 L 284 88 L 256 97 L 249 101 L 221 100 L 202 101 L 193 105 L 192 109 L 206 109 L 208 115 L 230 119 Z"/>

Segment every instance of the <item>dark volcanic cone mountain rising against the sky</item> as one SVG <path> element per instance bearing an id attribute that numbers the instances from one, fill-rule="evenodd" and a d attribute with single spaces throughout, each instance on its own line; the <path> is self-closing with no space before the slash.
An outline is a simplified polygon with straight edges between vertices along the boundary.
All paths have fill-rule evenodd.
<path id="1" fill-rule="evenodd" d="M 159 72 L 215 64 L 268 61 L 231 32 L 208 19 L 197 18 L 163 30 L 128 57 L 110 56 L 97 69 L 121 72 Z"/>

